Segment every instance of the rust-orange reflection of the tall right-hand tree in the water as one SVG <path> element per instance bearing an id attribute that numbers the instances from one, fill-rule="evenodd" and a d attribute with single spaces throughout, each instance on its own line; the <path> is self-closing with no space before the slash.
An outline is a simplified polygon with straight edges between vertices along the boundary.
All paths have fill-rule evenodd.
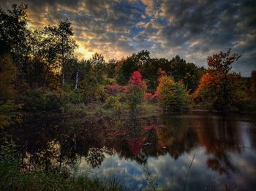
<path id="1" fill-rule="evenodd" d="M 240 152 L 236 122 L 228 117 L 214 117 L 210 120 L 205 118 L 201 122 L 196 129 L 197 137 L 200 144 L 206 147 L 206 152 L 213 155 L 206 162 L 208 168 L 219 174 L 235 171 L 228 152 Z"/>

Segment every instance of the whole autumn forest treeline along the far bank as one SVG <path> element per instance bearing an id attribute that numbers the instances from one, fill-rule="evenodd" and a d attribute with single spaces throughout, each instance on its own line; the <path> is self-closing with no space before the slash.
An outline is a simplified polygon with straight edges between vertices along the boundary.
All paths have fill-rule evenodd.
<path id="1" fill-rule="evenodd" d="M 123 105 L 137 111 L 142 103 L 172 111 L 255 106 L 256 72 L 252 77 L 233 72 L 231 64 L 240 55 L 231 50 L 208 56 L 208 69 L 178 55 L 151 58 L 148 50 L 120 60 L 105 61 L 99 53 L 79 60 L 69 20 L 32 30 L 27 8 L 13 4 L 0 9 L 1 111 L 57 111 L 70 104 L 95 109 L 95 103 L 118 112 Z"/>

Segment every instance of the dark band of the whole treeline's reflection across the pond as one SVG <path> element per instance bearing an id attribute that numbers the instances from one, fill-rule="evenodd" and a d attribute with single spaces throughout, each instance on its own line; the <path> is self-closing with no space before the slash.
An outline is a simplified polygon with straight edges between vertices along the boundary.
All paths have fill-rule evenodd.
<path id="1" fill-rule="evenodd" d="M 180 115 L 100 120 L 25 117 L 20 128 L 10 128 L 9 134 L 23 146 L 20 151 L 29 170 L 69 166 L 81 157 L 94 168 L 105 160 L 105 153 L 118 153 L 140 164 L 166 153 L 177 159 L 199 141 L 211 155 L 208 168 L 222 174 L 234 169 L 227 151 L 239 152 L 239 137 L 236 122 L 218 119 Z"/>

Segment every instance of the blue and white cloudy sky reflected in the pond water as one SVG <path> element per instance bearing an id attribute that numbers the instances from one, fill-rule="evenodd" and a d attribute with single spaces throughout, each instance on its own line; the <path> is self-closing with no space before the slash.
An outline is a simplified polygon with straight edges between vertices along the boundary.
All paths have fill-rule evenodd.
<path id="1" fill-rule="evenodd" d="M 229 171 L 229 174 L 219 174 L 219 172 L 212 171 L 206 165 L 206 160 L 211 155 L 206 154 L 203 147 L 197 147 L 178 157 L 178 160 L 174 160 L 168 154 L 159 157 L 148 157 L 147 167 L 152 176 L 155 177 L 158 189 L 183 190 L 189 164 L 194 154 L 195 160 L 189 172 L 186 190 L 193 190 L 193 188 L 196 188 L 196 190 L 225 190 L 226 187 L 248 190 L 256 186 L 254 182 L 256 176 L 256 153 L 254 149 L 244 149 L 242 154 L 227 153 L 232 159 L 233 165 L 236 166 L 236 171 Z M 89 171 L 90 176 L 97 176 L 102 179 L 106 177 L 117 179 L 132 190 L 141 190 L 148 183 L 143 165 L 136 163 L 134 160 L 125 160 L 119 157 L 118 154 L 105 155 L 105 160 L 99 168 L 91 168 L 82 159 L 80 171 L 82 173 Z"/>

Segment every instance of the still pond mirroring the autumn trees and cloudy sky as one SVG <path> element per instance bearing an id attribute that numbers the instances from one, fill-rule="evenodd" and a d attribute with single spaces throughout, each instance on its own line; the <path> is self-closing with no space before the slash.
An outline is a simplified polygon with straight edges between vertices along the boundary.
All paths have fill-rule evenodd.
<path id="1" fill-rule="evenodd" d="M 6 128 L 24 171 L 67 168 L 124 190 L 254 190 L 256 118 L 189 112 L 151 117 L 24 117 Z"/>

